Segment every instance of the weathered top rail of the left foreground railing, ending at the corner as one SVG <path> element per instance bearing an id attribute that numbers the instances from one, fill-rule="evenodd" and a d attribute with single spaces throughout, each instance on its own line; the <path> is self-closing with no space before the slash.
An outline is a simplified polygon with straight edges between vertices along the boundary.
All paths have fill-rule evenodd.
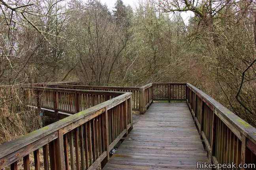
<path id="1" fill-rule="evenodd" d="M 92 113 L 95 113 L 96 111 L 99 111 L 104 107 L 111 109 L 113 107 L 112 104 L 118 105 L 117 103 L 119 103 L 121 100 L 123 100 L 127 96 L 130 96 L 131 94 L 132 92 L 126 92 L 120 96 L 117 96 L 115 98 L 102 102 L 98 105 L 95 105 L 93 107 L 80 111 L 78 113 L 75 113 L 74 115 L 58 120 L 57 122 L 49 124 L 48 126 L 42 127 L 36 131 L 32 131 L 22 137 L 19 137 L 17 139 L 4 143 L 0 145 L 0 151 L 4 150 L 4 152 L 0 152 L 0 158 L 13 153 L 13 151 L 15 152 L 25 146 L 28 146 L 29 144 L 32 144 L 33 142 L 40 140 L 41 138 L 57 131 L 58 129 L 68 126 L 69 124 L 76 122 L 77 120 L 80 120 L 82 118 L 86 119 L 87 116 L 92 115 Z"/>

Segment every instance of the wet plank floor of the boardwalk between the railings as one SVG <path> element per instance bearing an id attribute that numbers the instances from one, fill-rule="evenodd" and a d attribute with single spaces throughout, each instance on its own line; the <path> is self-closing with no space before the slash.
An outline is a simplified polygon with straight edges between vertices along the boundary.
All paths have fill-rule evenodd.
<path id="1" fill-rule="evenodd" d="M 209 162 L 186 103 L 152 103 L 103 170 L 196 169 Z"/>

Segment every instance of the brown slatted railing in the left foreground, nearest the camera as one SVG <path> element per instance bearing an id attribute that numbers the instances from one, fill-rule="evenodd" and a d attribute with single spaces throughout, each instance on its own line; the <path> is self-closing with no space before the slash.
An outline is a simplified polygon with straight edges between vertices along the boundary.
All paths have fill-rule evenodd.
<path id="1" fill-rule="evenodd" d="M 94 170 L 105 164 L 109 151 L 132 128 L 131 97 L 121 94 L 0 145 L 0 170 L 17 170 L 18 164 L 24 170 Z"/>

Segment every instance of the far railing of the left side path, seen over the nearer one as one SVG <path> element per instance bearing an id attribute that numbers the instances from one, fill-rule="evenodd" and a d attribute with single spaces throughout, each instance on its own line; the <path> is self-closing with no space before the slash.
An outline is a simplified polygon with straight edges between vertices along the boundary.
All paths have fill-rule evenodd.
<path id="1" fill-rule="evenodd" d="M 117 86 L 86 86 L 86 85 L 46 85 L 45 87 L 62 88 L 62 89 L 80 89 L 80 90 L 94 90 L 94 91 L 119 91 L 132 92 L 132 110 L 140 111 L 139 105 L 141 103 L 139 96 L 139 87 L 117 87 Z"/>

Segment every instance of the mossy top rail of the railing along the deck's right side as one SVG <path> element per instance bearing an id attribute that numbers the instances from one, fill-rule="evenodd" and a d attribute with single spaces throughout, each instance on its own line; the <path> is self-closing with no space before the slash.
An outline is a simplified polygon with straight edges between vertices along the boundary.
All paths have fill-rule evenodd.
<path id="1" fill-rule="evenodd" d="M 245 122 L 242 118 L 235 115 L 228 108 L 224 107 L 222 104 L 214 100 L 211 96 L 201 91 L 200 89 L 194 87 L 190 83 L 187 83 L 188 87 L 191 87 L 192 91 L 196 92 L 203 99 L 209 102 L 213 107 L 218 111 L 218 114 L 226 118 L 228 122 L 230 122 L 234 127 L 239 130 L 240 133 L 245 135 L 248 139 L 250 139 L 254 144 L 256 144 L 256 128 Z"/>

